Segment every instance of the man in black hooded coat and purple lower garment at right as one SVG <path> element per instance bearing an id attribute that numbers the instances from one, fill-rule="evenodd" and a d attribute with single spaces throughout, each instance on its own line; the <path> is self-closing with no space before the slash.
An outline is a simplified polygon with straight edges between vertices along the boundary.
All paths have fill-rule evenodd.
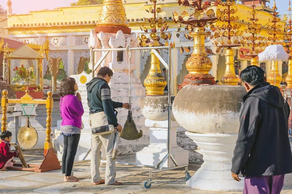
<path id="1" fill-rule="evenodd" d="M 240 73 L 247 94 L 243 97 L 240 128 L 231 174 L 245 176 L 244 194 L 280 194 L 284 175 L 292 173 L 288 137 L 290 107 L 264 71 L 251 65 Z"/>

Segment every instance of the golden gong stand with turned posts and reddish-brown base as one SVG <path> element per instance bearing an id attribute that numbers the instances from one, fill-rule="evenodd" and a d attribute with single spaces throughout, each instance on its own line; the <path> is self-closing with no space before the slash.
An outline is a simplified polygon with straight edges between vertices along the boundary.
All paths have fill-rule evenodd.
<path id="1" fill-rule="evenodd" d="M 46 172 L 51 170 L 60 169 L 60 162 L 57 159 L 55 150 L 53 149 L 53 144 L 51 141 L 51 127 L 52 127 L 52 111 L 53 111 L 53 92 L 49 91 L 47 93 L 48 98 L 46 100 L 35 100 L 29 95 L 28 87 L 26 87 L 25 95 L 20 99 L 8 99 L 8 91 L 2 91 L 1 106 L 2 106 L 2 126 L 1 130 L 7 130 L 7 106 L 8 103 L 16 104 L 45 104 L 47 108 L 47 124 L 46 124 L 46 141 L 44 144 L 44 159 L 41 164 L 27 164 L 27 168 L 23 167 L 22 164 L 14 163 L 12 167 L 8 169 L 13 170 L 24 170 L 24 171 L 34 171 L 34 172 Z"/>

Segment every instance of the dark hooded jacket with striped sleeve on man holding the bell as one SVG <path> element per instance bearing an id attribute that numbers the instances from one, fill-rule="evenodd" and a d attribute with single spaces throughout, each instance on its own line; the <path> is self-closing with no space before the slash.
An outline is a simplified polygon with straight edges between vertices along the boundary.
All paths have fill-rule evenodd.
<path id="1" fill-rule="evenodd" d="M 123 103 L 111 100 L 108 82 L 97 77 L 88 82 L 86 87 L 91 110 L 90 114 L 104 111 L 108 117 L 109 123 L 117 127 L 119 124 L 113 109 L 122 108 Z"/>

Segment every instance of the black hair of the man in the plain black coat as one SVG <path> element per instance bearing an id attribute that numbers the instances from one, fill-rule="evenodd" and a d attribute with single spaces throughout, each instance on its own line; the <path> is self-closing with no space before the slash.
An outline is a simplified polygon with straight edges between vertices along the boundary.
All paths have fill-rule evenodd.
<path id="1" fill-rule="evenodd" d="M 241 71 L 239 77 L 245 83 L 256 85 L 265 81 L 265 72 L 259 66 L 250 65 Z"/>

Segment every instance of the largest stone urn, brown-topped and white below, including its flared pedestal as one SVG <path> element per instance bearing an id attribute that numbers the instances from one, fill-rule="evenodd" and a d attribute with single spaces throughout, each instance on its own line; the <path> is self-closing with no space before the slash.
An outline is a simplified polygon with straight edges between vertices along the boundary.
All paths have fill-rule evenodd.
<path id="1" fill-rule="evenodd" d="M 208 191 L 242 191 L 231 177 L 231 160 L 239 129 L 239 114 L 246 94 L 242 86 L 184 86 L 172 111 L 185 133 L 200 148 L 204 163 L 186 185 Z"/>

